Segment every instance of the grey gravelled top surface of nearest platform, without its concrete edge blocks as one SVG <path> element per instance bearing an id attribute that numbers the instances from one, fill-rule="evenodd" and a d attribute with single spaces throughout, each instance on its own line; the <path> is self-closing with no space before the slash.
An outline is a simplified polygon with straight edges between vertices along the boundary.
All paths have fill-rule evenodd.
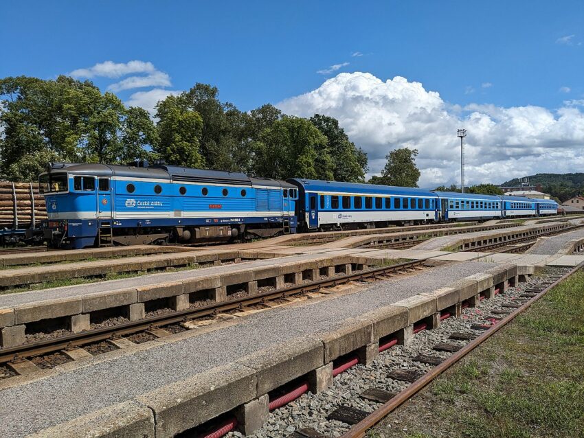
<path id="1" fill-rule="evenodd" d="M 198 335 L 180 334 L 179 341 L 162 338 L 153 347 L 140 345 L 144 347 L 133 354 L 114 351 L 82 365 L 60 366 L 44 378 L 0 389 L 0 436 L 25 437 L 114 404 L 133 402 L 164 385 L 286 345 L 291 338 L 318 339 L 319 333 L 339 328 L 339 321 L 495 266 L 485 262 L 438 266 L 413 277 L 376 282 L 355 294 L 251 314 L 240 323 Z"/>

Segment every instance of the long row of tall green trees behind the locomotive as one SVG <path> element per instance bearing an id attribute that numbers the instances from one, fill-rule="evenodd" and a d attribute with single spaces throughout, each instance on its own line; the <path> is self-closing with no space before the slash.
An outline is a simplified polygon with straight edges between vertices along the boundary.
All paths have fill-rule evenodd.
<path id="1" fill-rule="evenodd" d="M 192 168 L 364 182 L 367 154 L 333 117 L 304 119 L 271 104 L 240 111 L 197 83 L 158 102 L 152 119 L 91 81 L 0 80 L 0 178 L 34 181 L 49 161 L 163 159 Z"/>

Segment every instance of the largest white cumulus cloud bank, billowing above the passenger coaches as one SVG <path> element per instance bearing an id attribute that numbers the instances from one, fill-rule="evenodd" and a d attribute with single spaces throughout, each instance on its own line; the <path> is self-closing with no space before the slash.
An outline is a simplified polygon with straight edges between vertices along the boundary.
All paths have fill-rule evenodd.
<path id="1" fill-rule="evenodd" d="M 576 102 L 574 102 L 576 103 Z M 277 104 L 284 113 L 339 120 L 352 141 L 368 153 L 378 173 L 385 155 L 417 148 L 420 187 L 460 183 L 460 140 L 467 128 L 465 176 L 469 183 L 502 183 L 536 172 L 578 171 L 584 164 L 584 114 L 576 106 L 551 111 L 540 106 L 504 108 L 447 104 L 436 91 L 396 76 L 339 73 L 319 88 Z"/>

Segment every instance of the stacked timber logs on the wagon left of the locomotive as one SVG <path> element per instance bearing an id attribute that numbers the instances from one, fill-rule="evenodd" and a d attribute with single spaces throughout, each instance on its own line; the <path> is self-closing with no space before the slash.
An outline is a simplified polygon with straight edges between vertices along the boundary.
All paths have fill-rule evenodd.
<path id="1" fill-rule="evenodd" d="M 0 229 L 38 227 L 47 218 L 45 198 L 38 183 L 0 181 Z"/>

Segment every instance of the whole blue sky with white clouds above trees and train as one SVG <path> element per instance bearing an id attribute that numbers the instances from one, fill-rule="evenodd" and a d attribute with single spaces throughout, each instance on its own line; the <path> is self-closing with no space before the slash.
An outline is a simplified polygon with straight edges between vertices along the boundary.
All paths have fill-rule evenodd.
<path id="1" fill-rule="evenodd" d="M 420 187 L 584 169 L 584 2 L 16 1 L 0 78 L 68 74 L 153 111 L 196 82 L 243 111 L 339 119 L 418 149 Z"/>

